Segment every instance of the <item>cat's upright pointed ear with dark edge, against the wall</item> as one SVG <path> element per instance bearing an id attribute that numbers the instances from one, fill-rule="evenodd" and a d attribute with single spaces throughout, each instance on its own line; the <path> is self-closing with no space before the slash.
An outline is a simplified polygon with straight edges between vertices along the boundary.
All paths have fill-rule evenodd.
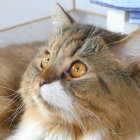
<path id="1" fill-rule="evenodd" d="M 61 28 L 74 22 L 71 16 L 59 4 L 56 4 L 56 12 L 52 19 L 55 28 Z"/>

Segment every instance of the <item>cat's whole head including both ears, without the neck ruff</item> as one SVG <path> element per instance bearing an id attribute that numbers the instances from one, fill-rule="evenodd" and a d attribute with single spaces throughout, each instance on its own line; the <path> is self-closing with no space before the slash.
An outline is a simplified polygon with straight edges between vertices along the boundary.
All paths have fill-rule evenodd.
<path id="1" fill-rule="evenodd" d="M 130 99 L 139 92 L 140 31 L 107 44 L 100 36 L 90 36 L 94 27 L 73 23 L 59 10 L 66 24 L 59 19 L 60 29 L 23 77 L 22 88 L 29 87 L 23 94 L 27 107 L 68 121 L 96 116 L 114 121 L 127 115 L 122 106 L 135 104 Z"/>

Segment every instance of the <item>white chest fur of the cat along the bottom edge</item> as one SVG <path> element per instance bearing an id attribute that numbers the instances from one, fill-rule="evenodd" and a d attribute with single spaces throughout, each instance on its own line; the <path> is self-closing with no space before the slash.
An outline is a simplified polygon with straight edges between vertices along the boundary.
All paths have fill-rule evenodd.
<path id="1" fill-rule="evenodd" d="M 79 138 L 78 140 L 104 140 L 103 133 L 98 130 Z M 21 125 L 16 133 L 6 140 L 74 140 L 69 133 L 51 133 L 38 127 L 35 122 Z M 132 140 L 132 139 L 128 139 Z M 140 140 L 140 136 L 133 140 Z"/>

